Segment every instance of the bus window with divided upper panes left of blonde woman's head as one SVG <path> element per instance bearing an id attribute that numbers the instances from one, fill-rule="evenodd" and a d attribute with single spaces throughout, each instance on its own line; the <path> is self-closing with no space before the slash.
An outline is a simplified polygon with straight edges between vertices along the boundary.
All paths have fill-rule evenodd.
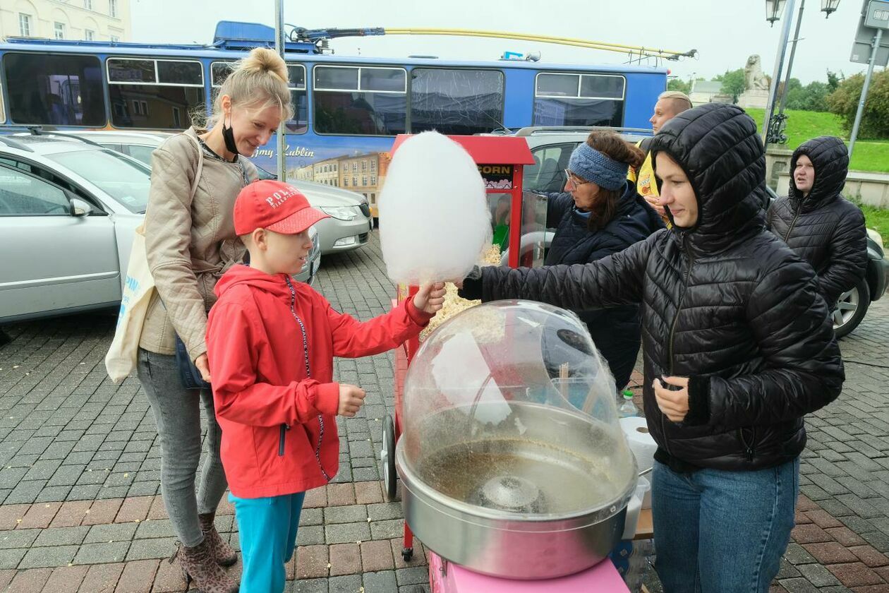
<path id="1" fill-rule="evenodd" d="M 108 58 L 111 123 L 119 128 L 181 130 L 204 107 L 204 68 L 196 60 Z"/>

